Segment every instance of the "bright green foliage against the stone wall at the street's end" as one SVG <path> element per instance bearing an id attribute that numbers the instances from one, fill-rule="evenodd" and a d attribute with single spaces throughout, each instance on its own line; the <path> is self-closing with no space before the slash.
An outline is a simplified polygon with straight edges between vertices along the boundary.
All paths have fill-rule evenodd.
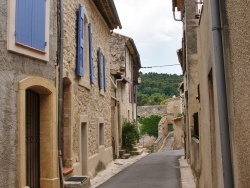
<path id="1" fill-rule="evenodd" d="M 148 134 L 149 136 L 158 137 L 158 124 L 161 116 L 151 115 L 150 117 L 141 117 L 139 122 L 141 124 L 141 134 Z"/>

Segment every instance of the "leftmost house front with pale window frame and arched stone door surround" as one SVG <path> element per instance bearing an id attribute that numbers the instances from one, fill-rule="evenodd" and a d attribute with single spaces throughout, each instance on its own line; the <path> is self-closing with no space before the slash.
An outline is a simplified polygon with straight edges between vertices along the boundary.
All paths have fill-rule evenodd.
<path id="1" fill-rule="evenodd" d="M 39 60 L 36 55 L 46 59 L 46 55 L 24 49 L 13 43 L 22 52 L 8 50 L 10 38 L 15 38 L 10 27 L 15 28 L 11 19 L 16 1 L 0 2 L 0 187 L 25 187 L 26 184 L 26 90 L 36 92 L 40 97 L 40 186 L 58 187 L 57 163 L 57 123 L 56 123 L 56 67 L 57 62 L 57 1 L 49 1 L 50 15 L 46 21 L 46 35 L 49 60 Z M 13 18 L 13 17 L 12 17 Z M 15 18 L 15 17 L 14 17 Z M 48 22 L 49 21 L 49 22 Z M 34 56 L 35 54 L 35 56 Z M 44 56 L 44 57 L 43 57 Z M 46 100 L 49 99 L 50 101 Z M 47 120 L 44 118 L 47 117 Z M 50 126 L 46 126 L 45 124 Z M 43 126 L 43 127 L 42 127 Z M 42 131 L 50 132 L 43 135 Z M 55 138 L 55 139 L 54 139 Z M 50 151 L 50 153 L 48 153 Z M 46 155 L 45 158 L 42 156 Z M 43 165 L 43 166 L 42 166 Z M 43 172 L 47 172 L 47 174 Z"/>

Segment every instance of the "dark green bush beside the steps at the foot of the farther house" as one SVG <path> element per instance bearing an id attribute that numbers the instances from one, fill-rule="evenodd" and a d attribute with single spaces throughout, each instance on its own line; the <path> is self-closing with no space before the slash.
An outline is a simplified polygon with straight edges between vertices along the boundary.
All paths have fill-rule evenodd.
<path id="1" fill-rule="evenodd" d="M 122 146 L 127 151 L 132 151 L 133 145 L 139 140 L 136 124 L 125 122 L 122 126 Z"/>

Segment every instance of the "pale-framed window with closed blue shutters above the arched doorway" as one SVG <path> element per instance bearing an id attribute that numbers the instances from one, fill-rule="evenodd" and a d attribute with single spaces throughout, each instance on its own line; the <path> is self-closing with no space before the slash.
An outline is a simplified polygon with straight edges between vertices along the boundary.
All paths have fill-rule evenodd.
<path id="1" fill-rule="evenodd" d="M 9 1 L 8 50 L 49 60 L 50 1 Z"/>

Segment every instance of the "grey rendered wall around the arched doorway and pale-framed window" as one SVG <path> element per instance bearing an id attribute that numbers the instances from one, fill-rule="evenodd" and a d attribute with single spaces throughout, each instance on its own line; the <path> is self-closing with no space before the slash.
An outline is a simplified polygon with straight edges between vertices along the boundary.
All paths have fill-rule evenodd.
<path id="1" fill-rule="evenodd" d="M 29 58 L 7 50 L 8 0 L 0 1 L 0 187 L 19 187 L 18 84 L 29 76 L 55 83 L 57 50 L 57 1 L 50 1 L 49 61 Z M 39 84 L 39 83 L 35 83 Z M 25 118 L 25 117 L 22 117 Z M 25 147 L 23 147 L 23 150 Z M 56 148 L 55 152 L 57 151 Z M 24 152 L 24 151 L 21 151 Z M 56 169 L 53 169 L 53 171 Z M 22 172 L 23 173 L 23 172 Z M 54 187 L 54 186 L 53 186 Z"/>

